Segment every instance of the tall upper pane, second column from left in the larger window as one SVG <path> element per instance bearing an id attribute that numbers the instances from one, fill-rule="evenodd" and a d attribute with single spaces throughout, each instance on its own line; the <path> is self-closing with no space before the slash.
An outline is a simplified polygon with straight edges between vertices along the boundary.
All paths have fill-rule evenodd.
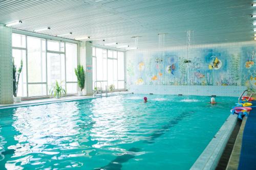
<path id="1" fill-rule="evenodd" d="M 28 82 L 46 82 L 46 41 L 28 37 Z"/>

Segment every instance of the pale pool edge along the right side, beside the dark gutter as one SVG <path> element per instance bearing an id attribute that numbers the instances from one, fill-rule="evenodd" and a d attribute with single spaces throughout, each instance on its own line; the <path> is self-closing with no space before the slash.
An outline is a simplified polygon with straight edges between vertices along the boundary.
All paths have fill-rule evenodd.
<path id="1" fill-rule="evenodd" d="M 227 141 L 236 126 L 237 115 L 230 114 L 202 154 L 191 166 L 191 170 L 215 169 L 225 149 Z"/>

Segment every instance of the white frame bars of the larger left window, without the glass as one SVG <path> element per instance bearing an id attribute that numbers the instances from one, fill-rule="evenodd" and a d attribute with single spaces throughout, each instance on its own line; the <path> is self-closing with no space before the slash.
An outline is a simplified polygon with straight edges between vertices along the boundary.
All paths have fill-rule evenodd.
<path id="1" fill-rule="evenodd" d="M 76 53 L 76 60 L 77 60 L 77 65 L 79 64 L 79 58 L 78 58 L 78 50 L 79 50 L 79 47 L 78 47 L 78 43 L 75 43 L 75 42 L 69 42 L 69 41 L 62 41 L 62 40 L 55 40 L 55 39 L 51 39 L 51 38 L 44 38 L 44 37 L 39 37 L 39 36 L 32 36 L 32 35 L 27 35 L 27 34 L 24 34 L 24 33 L 16 33 L 16 32 L 13 32 L 12 34 L 18 34 L 18 35 L 23 35 L 25 36 L 25 44 L 26 44 L 26 47 L 17 47 L 17 46 L 12 46 L 12 50 L 15 49 L 15 50 L 24 50 L 26 52 L 26 68 L 23 68 L 25 69 L 26 71 L 26 96 L 23 96 L 22 98 L 33 98 L 33 97 L 39 97 L 39 96 L 49 96 L 49 87 L 48 87 L 48 75 L 47 75 L 47 59 L 48 59 L 48 53 L 55 53 L 55 54 L 63 54 L 64 55 L 64 58 L 65 58 L 65 89 L 67 91 L 67 84 L 69 83 L 76 83 L 77 84 L 77 89 L 78 89 L 78 82 L 77 81 L 74 81 L 74 82 L 67 82 L 67 58 L 66 58 L 66 43 L 72 43 L 72 44 L 76 44 L 77 46 L 77 53 Z M 46 45 L 46 49 L 45 49 L 45 53 L 46 53 L 46 82 L 29 82 L 28 81 L 28 37 L 33 37 L 33 38 L 40 38 L 40 39 L 44 39 L 45 40 L 45 45 Z M 63 42 L 64 43 L 64 51 L 61 52 L 61 51 L 50 51 L 48 50 L 48 40 L 50 41 L 58 41 L 59 43 Z M 29 85 L 46 85 L 46 95 L 29 95 Z M 68 93 L 68 94 L 74 94 L 74 93 Z"/>

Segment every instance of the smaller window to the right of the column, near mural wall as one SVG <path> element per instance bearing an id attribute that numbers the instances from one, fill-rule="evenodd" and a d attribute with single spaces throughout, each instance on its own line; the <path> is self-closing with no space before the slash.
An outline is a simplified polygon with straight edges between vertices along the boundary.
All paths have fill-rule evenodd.
<path id="1" fill-rule="evenodd" d="M 93 47 L 93 87 L 101 82 L 103 90 L 114 85 L 115 89 L 124 89 L 124 53 Z M 95 84 L 100 87 L 100 83 Z"/>

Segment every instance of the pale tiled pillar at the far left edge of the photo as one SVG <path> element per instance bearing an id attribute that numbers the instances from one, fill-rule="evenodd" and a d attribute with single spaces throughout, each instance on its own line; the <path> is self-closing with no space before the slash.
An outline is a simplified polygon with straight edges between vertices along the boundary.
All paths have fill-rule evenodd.
<path id="1" fill-rule="evenodd" d="M 0 104 L 12 102 L 12 29 L 0 24 Z"/>

